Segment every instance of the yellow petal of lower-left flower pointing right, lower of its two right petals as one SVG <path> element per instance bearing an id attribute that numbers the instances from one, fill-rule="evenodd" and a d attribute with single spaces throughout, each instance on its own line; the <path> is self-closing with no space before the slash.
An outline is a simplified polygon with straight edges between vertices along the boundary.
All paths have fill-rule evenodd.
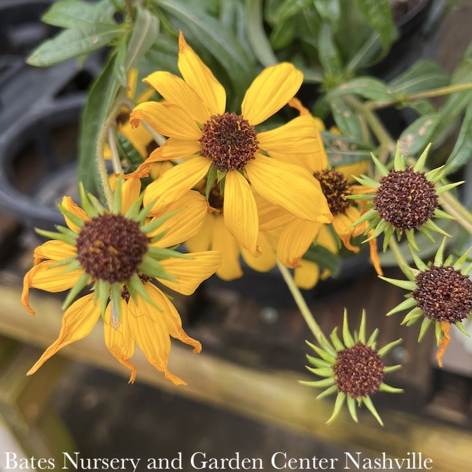
<path id="1" fill-rule="evenodd" d="M 198 285 L 214 274 L 222 264 L 219 251 L 190 252 L 188 259 L 164 259 L 162 267 L 172 274 L 176 281 L 158 278 L 160 283 L 183 295 L 192 295 Z"/>

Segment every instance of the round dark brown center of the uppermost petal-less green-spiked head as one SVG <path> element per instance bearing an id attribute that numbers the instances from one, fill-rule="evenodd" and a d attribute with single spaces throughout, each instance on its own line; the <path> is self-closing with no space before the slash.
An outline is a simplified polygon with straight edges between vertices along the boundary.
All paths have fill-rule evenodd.
<path id="1" fill-rule="evenodd" d="M 438 207 L 438 196 L 434 183 L 426 179 L 424 172 L 408 167 L 382 177 L 373 202 L 380 218 L 404 231 L 419 229 L 432 218 Z"/>

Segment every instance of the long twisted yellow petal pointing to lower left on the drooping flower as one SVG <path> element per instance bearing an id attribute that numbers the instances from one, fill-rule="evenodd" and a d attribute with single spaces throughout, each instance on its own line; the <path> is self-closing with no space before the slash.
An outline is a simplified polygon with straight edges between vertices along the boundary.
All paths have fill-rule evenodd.
<path id="1" fill-rule="evenodd" d="M 94 304 L 94 295 L 86 295 L 75 301 L 62 317 L 62 328 L 57 340 L 44 351 L 27 375 L 35 373 L 49 358 L 64 346 L 88 336 L 100 317 L 100 306 Z"/>

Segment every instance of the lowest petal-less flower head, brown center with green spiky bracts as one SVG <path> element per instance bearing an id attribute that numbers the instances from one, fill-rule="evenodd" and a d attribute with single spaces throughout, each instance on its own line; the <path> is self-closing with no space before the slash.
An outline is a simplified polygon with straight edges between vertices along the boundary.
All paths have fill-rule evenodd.
<path id="1" fill-rule="evenodd" d="M 358 422 L 356 408 L 364 404 L 383 426 L 382 419 L 370 397 L 378 391 L 402 392 L 402 389 L 396 389 L 384 383 L 384 374 L 399 369 L 401 365 L 387 367 L 383 360 L 383 356 L 402 340 L 398 339 L 376 350 L 377 335 L 378 330 L 375 330 L 367 339 L 365 311 L 362 313 L 358 332 L 354 331 L 352 335 L 348 326 L 348 313 L 344 311 L 343 341 L 337 335 L 337 328 L 331 332 L 331 343 L 325 340 L 321 348 L 306 341 L 318 356 L 306 355 L 309 363 L 313 365 L 313 367 L 306 366 L 306 369 L 324 379 L 314 382 L 300 381 L 300 383 L 316 388 L 327 387 L 317 396 L 317 399 L 337 393 L 335 408 L 326 423 L 335 421 L 343 404 L 347 403 L 349 413 L 356 423 Z"/>

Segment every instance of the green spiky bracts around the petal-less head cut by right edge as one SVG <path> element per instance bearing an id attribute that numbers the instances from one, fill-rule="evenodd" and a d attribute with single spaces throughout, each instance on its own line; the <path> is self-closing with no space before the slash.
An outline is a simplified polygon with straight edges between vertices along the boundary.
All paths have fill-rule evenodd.
<path id="1" fill-rule="evenodd" d="M 444 339 L 444 332 L 441 328 L 441 322 L 438 319 L 434 319 L 431 317 L 426 317 L 423 310 L 419 307 L 417 300 L 415 300 L 413 293 L 418 288 L 417 285 L 417 276 L 420 273 L 430 272 L 431 267 L 452 267 L 455 271 L 460 272 L 463 276 L 469 276 L 472 270 L 472 263 L 469 261 L 469 252 L 471 251 L 472 247 L 469 248 L 464 254 L 460 257 L 455 258 L 452 254 L 449 255 L 445 259 L 445 246 L 446 246 L 447 238 L 444 237 L 443 241 L 441 241 L 441 245 L 439 246 L 436 254 L 434 255 L 434 259 L 429 263 L 423 262 L 418 254 L 414 250 L 411 250 L 412 259 L 415 261 L 416 267 L 404 267 L 404 274 L 408 280 L 398 280 L 395 278 L 388 278 L 380 276 L 382 280 L 385 280 L 392 285 L 400 287 L 402 289 L 406 289 L 410 291 L 405 296 L 405 300 L 397 304 L 393 309 L 386 313 L 387 316 L 393 315 L 395 313 L 399 313 L 401 311 L 408 310 L 404 319 L 402 320 L 402 324 L 406 326 L 411 326 L 415 324 L 420 319 L 421 321 L 421 328 L 419 330 L 418 342 L 423 339 L 426 331 L 430 326 L 434 327 L 434 333 L 436 336 L 436 343 L 439 345 L 441 341 Z M 456 260 L 455 260 L 456 259 Z M 454 261 L 455 260 L 455 261 Z M 469 261 L 469 262 L 468 262 Z M 454 292 L 453 292 L 454 295 Z M 432 294 L 433 296 L 433 294 Z M 453 300 L 450 300 L 452 302 Z M 433 300 L 434 302 L 434 300 Z M 437 300 L 439 304 L 441 301 Z M 471 312 L 472 313 L 472 312 Z M 464 335 L 469 336 L 469 333 L 464 330 L 461 322 L 456 322 L 454 325 L 460 330 Z"/>

